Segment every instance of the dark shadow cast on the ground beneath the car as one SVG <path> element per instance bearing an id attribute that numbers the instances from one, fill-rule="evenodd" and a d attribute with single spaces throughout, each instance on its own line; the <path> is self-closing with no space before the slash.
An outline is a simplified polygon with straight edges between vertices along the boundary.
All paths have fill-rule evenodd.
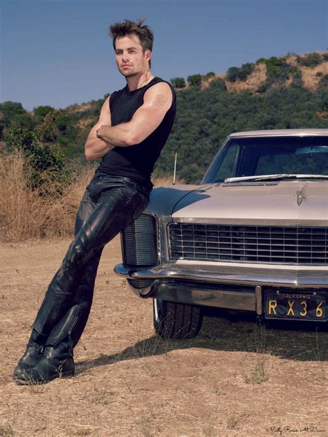
<path id="1" fill-rule="evenodd" d="M 78 362 L 76 373 L 81 373 L 86 366 L 104 366 L 188 348 L 255 352 L 287 360 L 325 362 L 328 361 L 328 333 L 326 324 L 263 322 L 246 313 L 233 315 L 212 309 L 207 311 L 201 331 L 194 339 L 165 340 L 152 335 L 120 353 L 100 354 L 94 360 Z"/>

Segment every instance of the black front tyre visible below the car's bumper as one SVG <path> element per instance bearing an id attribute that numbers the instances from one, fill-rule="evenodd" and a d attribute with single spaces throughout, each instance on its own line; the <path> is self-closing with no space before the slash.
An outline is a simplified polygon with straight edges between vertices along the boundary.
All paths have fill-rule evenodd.
<path id="1" fill-rule="evenodd" d="M 201 329 L 202 312 L 198 306 L 153 299 L 154 328 L 166 339 L 194 338 Z"/>

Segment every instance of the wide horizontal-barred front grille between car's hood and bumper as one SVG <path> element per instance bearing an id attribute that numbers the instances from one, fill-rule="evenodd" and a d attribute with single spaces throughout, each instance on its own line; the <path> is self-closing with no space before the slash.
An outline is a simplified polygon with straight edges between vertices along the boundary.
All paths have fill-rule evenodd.
<path id="1" fill-rule="evenodd" d="M 327 227 L 172 223 L 171 259 L 327 264 Z"/>

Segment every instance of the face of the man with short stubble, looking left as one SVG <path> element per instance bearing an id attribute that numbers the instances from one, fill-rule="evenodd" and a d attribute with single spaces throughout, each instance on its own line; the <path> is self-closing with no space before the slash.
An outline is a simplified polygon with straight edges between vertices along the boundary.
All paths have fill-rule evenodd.
<path id="1" fill-rule="evenodd" d="M 123 76 L 131 77 L 146 70 L 152 53 L 150 50 L 143 51 L 137 35 L 118 37 L 115 46 L 116 64 Z"/>

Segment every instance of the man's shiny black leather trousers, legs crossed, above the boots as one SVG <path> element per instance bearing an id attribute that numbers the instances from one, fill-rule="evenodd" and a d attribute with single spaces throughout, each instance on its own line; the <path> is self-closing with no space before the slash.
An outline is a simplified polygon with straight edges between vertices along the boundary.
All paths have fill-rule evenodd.
<path id="1" fill-rule="evenodd" d="M 75 239 L 53 277 L 33 324 L 30 343 L 57 347 L 80 340 L 93 299 L 104 245 L 145 210 L 152 187 L 95 172 L 80 203 Z"/>

